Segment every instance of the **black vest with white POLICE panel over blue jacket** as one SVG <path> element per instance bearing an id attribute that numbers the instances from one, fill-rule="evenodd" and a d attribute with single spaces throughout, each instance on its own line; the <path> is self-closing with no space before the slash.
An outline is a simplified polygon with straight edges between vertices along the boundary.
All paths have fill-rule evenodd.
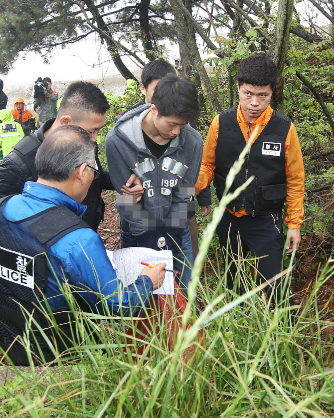
<path id="1" fill-rule="evenodd" d="M 2 206 L 9 198 L 10 196 L 0 200 L 0 346 L 3 350 L 8 350 L 16 337 L 24 334 L 27 313 L 33 313 L 37 323 L 45 329 L 46 335 L 57 344 L 61 352 L 66 347 L 62 338 L 68 335 L 70 339 L 71 336 L 69 312 L 64 312 L 63 308 L 54 311 L 57 323 L 65 323 L 62 327 L 62 338 L 59 338 L 59 330 L 57 333 L 53 332 L 47 315 L 39 310 L 39 301 L 43 298 L 48 281 L 46 254 L 51 245 L 67 233 L 89 226 L 70 209 L 61 205 L 22 220 L 10 221 L 2 212 Z M 31 329 L 35 330 L 33 334 L 45 361 L 52 361 L 52 351 L 33 323 Z M 29 340 L 32 351 L 40 357 L 32 332 Z M 11 345 L 8 356 L 14 364 L 29 365 L 19 340 Z M 37 359 L 35 364 L 38 364 Z"/>

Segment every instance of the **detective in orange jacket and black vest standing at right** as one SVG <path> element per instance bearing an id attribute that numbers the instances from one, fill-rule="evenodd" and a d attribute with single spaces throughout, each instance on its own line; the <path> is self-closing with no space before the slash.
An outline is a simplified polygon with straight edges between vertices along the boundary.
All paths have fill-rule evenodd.
<path id="1" fill-rule="evenodd" d="M 275 63 L 265 55 L 252 55 L 239 64 L 236 78 L 240 102 L 213 119 L 196 186 L 201 191 L 213 180 L 220 199 L 230 168 L 255 126 L 259 125 L 259 132 L 230 191 L 251 176 L 254 180 L 227 206 L 216 231 L 229 266 L 227 287 L 243 294 L 242 278 L 236 280 L 238 258 L 244 258 L 248 250 L 256 256 L 257 271 L 262 279 L 269 280 L 282 271 L 285 202 L 286 252 L 293 252 L 294 247 L 298 249 L 305 174 L 294 124 L 269 105 L 278 78 Z M 273 302 L 283 301 L 289 295 L 284 280 L 277 280 L 272 288 L 275 290 Z M 291 297 L 290 303 L 293 303 Z"/>

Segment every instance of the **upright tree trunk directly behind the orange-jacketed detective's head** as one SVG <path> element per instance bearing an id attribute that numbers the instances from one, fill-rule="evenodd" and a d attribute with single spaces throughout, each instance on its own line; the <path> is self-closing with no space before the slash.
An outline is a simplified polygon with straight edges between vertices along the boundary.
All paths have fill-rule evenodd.
<path id="1" fill-rule="evenodd" d="M 278 68 L 278 81 L 271 104 L 274 109 L 282 113 L 284 113 L 283 68 L 288 55 L 293 8 L 293 0 L 279 0 L 274 37 L 268 52 L 268 56 Z"/>

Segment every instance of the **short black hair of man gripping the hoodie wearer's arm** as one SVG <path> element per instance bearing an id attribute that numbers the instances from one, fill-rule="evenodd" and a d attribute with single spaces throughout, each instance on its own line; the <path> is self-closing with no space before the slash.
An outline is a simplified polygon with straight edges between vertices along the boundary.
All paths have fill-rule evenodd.
<path id="1" fill-rule="evenodd" d="M 88 81 L 75 81 L 67 87 L 57 116 L 69 113 L 73 122 L 79 123 L 91 112 L 104 115 L 109 109 L 108 100 L 98 87 Z"/>

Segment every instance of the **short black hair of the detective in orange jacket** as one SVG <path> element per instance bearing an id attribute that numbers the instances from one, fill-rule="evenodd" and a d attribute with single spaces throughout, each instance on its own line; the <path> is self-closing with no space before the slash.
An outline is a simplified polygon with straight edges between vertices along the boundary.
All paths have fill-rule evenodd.
<path id="1" fill-rule="evenodd" d="M 242 84 L 262 87 L 270 84 L 274 90 L 278 70 L 275 62 L 263 54 L 251 55 L 240 62 L 237 71 L 237 82 L 240 87 Z"/>

